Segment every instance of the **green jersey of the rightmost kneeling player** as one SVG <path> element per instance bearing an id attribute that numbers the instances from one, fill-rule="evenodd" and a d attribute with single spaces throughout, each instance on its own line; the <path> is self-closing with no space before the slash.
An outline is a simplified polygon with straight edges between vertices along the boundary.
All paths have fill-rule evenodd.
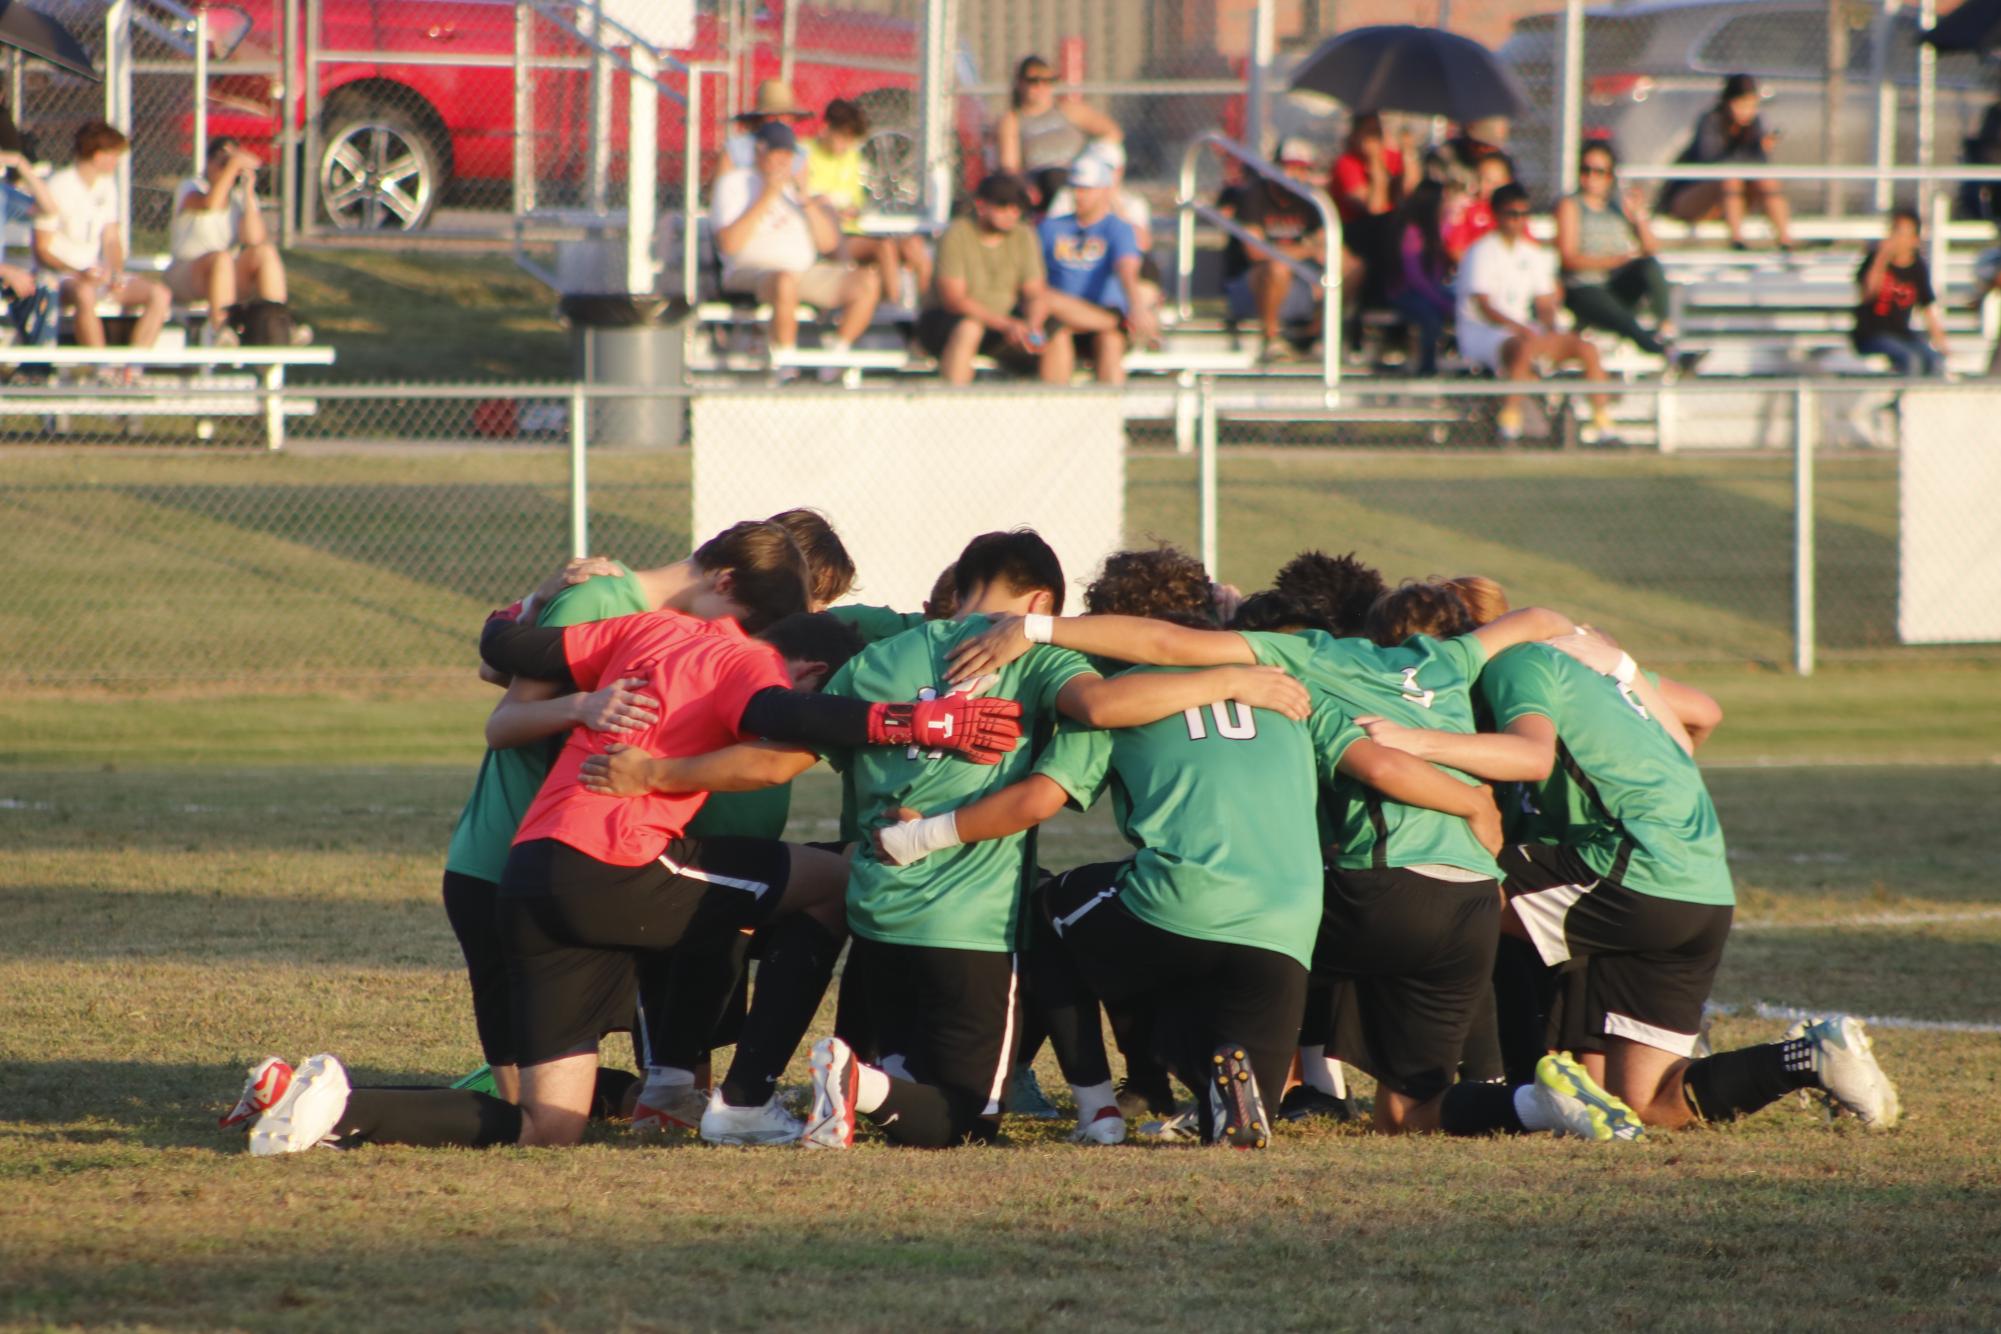
<path id="1" fill-rule="evenodd" d="M 1549 778 L 1523 784 L 1523 842 L 1573 848 L 1637 894 L 1737 902 L 1703 772 L 1625 686 L 1547 644 L 1521 644 L 1487 666 L 1481 696 L 1499 728 L 1529 716 L 1557 728 Z"/>

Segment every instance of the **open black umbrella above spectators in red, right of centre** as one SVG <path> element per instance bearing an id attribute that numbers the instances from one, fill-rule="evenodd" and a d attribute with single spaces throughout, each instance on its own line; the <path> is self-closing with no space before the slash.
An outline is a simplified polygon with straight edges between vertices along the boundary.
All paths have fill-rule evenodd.
<path id="1" fill-rule="evenodd" d="M 1529 108 L 1515 74 L 1455 32 L 1385 24 L 1321 42 L 1293 72 L 1295 92 L 1319 92 L 1359 112 L 1415 112 L 1467 124 Z"/>

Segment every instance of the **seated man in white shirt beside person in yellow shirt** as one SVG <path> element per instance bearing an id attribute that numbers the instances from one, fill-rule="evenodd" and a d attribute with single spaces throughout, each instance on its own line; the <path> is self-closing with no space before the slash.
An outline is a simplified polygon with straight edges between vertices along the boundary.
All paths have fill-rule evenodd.
<path id="1" fill-rule="evenodd" d="M 724 172 L 710 198 L 710 226 L 722 254 L 722 290 L 770 304 L 770 346 L 798 346 L 798 304 L 840 308 L 830 350 L 844 350 L 874 316 L 882 282 L 872 268 L 832 258 L 840 228 L 818 204 L 798 198 L 798 136 L 772 120 L 758 126 L 756 166 Z M 790 378 L 780 372 L 780 378 Z"/>

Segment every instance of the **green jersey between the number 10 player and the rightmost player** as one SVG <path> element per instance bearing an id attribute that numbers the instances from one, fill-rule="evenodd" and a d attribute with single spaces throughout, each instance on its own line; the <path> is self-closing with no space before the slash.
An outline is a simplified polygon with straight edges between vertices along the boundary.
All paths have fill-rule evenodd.
<path id="1" fill-rule="evenodd" d="M 1249 632 L 1257 660 L 1281 666 L 1307 686 L 1325 690 L 1349 714 L 1377 714 L 1407 728 L 1473 730 L 1473 682 L 1487 650 L 1471 634 L 1435 640 L 1415 634 L 1395 648 L 1371 640 L 1337 640 L 1321 630 L 1299 634 Z M 1459 782 L 1479 780 L 1443 768 Z M 1459 816 L 1393 802 L 1347 774 L 1329 786 L 1329 826 L 1341 870 L 1387 866 L 1457 866 L 1501 878 L 1493 854 Z"/>

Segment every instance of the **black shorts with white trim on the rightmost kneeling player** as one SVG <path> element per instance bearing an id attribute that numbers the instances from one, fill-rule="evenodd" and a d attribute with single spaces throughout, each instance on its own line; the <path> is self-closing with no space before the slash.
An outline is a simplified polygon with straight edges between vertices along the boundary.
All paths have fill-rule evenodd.
<path id="1" fill-rule="evenodd" d="M 1695 1054 L 1735 908 L 1639 894 L 1553 844 L 1503 848 L 1501 870 L 1543 962 L 1587 960 L 1585 1032 Z"/>

